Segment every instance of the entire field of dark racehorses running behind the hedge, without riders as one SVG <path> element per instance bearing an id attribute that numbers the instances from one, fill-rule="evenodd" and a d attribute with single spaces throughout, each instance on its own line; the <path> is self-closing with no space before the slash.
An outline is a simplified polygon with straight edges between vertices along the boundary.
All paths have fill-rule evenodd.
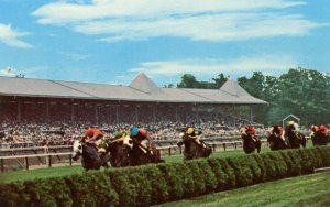
<path id="1" fill-rule="evenodd" d="M 267 139 L 268 145 L 272 151 L 285 150 L 285 149 L 298 149 L 306 146 L 306 138 L 304 134 L 295 131 L 294 129 L 286 129 L 284 133 L 280 133 L 278 127 L 273 128 L 273 133 Z M 315 134 L 318 135 L 318 134 Z M 243 150 L 246 154 L 261 151 L 261 140 L 254 135 L 242 133 Z M 197 144 L 195 140 L 188 139 L 186 132 L 182 132 L 179 138 L 184 144 L 184 160 L 193 160 L 199 157 L 208 157 L 212 153 L 212 148 L 206 143 Z M 328 138 L 327 138 L 328 139 Z M 327 141 L 319 137 L 314 139 L 315 145 L 327 144 Z M 319 140 L 322 140 L 319 142 Z M 73 160 L 77 161 L 80 156 L 82 166 L 86 171 L 98 170 L 101 166 L 108 167 L 110 162 L 113 167 L 122 166 L 135 166 L 147 163 L 162 163 L 161 153 L 153 144 L 150 152 L 146 152 L 139 143 L 136 143 L 130 135 L 125 135 L 120 140 L 108 141 L 106 153 L 99 154 L 95 145 L 86 143 L 81 140 L 74 142 L 74 155 Z"/>

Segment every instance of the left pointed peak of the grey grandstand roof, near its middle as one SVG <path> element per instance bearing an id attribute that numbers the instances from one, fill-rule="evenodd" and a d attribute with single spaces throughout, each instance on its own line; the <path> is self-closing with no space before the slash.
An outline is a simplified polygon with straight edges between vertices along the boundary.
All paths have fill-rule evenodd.
<path id="1" fill-rule="evenodd" d="M 146 94 L 162 92 L 162 89 L 144 73 L 140 73 L 130 84 L 130 87 Z"/>

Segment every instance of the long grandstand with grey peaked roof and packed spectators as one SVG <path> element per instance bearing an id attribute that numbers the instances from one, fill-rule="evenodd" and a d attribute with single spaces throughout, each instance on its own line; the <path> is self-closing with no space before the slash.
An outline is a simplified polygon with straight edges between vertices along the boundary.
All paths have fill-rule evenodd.
<path id="1" fill-rule="evenodd" d="M 141 124 L 164 134 L 186 124 L 238 127 L 237 107 L 264 103 L 231 79 L 220 89 L 187 89 L 160 88 L 143 73 L 129 86 L 0 77 L 0 131 L 14 143 L 72 140 L 88 124 L 109 133 Z"/>

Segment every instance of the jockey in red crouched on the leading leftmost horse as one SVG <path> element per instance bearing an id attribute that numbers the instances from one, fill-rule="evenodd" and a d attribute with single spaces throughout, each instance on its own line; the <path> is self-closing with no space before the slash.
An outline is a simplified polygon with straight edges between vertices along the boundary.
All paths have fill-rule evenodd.
<path id="1" fill-rule="evenodd" d="M 106 140 L 103 140 L 103 133 L 97 128 L 89 127 L 85 132 L 82 139 L 85 140 L 86 143 L 94 143 L 97 146 L 98 152 L 100 153 L 106 152 L 106 148 L 105 148 Z"/>

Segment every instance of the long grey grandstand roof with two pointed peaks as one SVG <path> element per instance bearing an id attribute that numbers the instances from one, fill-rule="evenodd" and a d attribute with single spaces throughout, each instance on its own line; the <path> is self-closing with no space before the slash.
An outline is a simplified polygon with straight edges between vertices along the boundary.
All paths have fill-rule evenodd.
<path id="1" fill-rule="evenodd" d="M 1 96 L 194 103 L 267 103 L 228 80 L 220 89 L 160 88 L 140 73 L 129 86 L 0 76 Z"/>

